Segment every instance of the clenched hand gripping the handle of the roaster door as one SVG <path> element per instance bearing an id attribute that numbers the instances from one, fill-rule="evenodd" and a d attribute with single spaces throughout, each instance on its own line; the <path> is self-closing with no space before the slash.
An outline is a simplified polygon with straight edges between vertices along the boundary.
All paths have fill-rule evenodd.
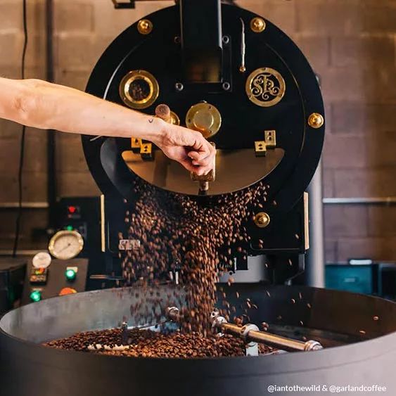
<path id="1" fill-rule="evenodd" d="M 213 169 L 216 150 L 200 132 L 165 123 L 160 136 L 153 143 L 186 170 L 201 176 Z"/>

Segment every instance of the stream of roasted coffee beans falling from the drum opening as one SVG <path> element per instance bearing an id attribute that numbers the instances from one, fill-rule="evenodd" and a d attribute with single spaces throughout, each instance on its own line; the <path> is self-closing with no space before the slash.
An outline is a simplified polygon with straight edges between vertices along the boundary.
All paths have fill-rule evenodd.
<path id="1" fill-rule="evenodd" d="M 122 260 L 126 284 L 169 279 L 178 272 L 188 307 L 181 330 L 206 335 L 219 274 L 228 273 L 236 257 L 246 260 L 250 241 L 246 226 L 252 221 L 252 208 L 260 209 L 267 200 L 267 189 L 258 182 L 223 196 L 191 197 L 137 179 L 136 200 L 125 218 L 129 232 L 120 234 L 120 238 L 140 241 L 139 248 L 128 250 Z M 222 314 L 234 319 L 227 304 Z"/>

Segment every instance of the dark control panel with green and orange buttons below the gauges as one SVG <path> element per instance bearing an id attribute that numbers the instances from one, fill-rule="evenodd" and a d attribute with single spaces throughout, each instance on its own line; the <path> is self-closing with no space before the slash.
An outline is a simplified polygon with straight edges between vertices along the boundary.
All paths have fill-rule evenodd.
<path id="1" fill-rule="evenodd" d="M 37 264 L 37 259 L 27 264 L 22 304 L 37 302 L 58 295 L 68 295 L 86 290 L 88 260 L 51 260 Z"/>

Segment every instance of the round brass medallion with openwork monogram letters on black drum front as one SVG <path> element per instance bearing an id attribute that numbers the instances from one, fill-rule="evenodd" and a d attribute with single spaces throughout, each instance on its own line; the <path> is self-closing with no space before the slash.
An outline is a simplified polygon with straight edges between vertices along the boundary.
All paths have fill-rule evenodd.
<path id="1" fill-rule="evenodd" d="M 250 101 L 261 107 L 275 106 L 286 92 L 285 80 L 271 68 L 260 68 L 252 72 L 245 88 Z"/>

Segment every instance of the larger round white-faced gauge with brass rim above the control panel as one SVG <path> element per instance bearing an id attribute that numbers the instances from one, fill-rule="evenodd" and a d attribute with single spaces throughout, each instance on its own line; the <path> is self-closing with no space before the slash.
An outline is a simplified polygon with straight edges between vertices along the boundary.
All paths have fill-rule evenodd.
<path id="1" fill-rule="evenodd" d="M 77 231 L 58 231 L 49 241 L 48 250 L 60 260 L 76 257 L 84 247 L 84 240 Z"/>

